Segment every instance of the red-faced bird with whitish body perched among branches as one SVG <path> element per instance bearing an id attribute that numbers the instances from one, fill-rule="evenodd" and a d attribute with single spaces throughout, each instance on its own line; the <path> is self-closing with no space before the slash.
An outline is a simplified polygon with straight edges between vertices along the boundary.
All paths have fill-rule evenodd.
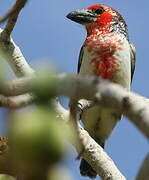
<path id="1" fill-rule="evenodd" d="M 87 32 L 79 55 L 78 74 L 103 78 L 130 90 L 136 49 L 129 40 L 122 15 L 107 5 L 97 4 L 72 11 L 66 17 L 83 25 Z M 82 102 L 90 103 L 80 100 L 79 104 Z M 82 112 L 81 121 L 90 136 L 104 148 L 121 116 L 117 110 L 95 104 Z M 84 159 L 81 160 L 80 173 L 90 178 L 97 176 Z"/>

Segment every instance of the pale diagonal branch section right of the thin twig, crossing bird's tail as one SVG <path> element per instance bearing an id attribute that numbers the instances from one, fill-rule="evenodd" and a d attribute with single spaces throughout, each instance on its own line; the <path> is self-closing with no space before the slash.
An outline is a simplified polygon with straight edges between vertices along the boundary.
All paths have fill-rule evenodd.
<path id="1" fill-rule="evenodd" d="M 103 180 L 125 180 L 112 159 L 83 128 L 80 128 L 80 136 L 84 145 L 84 152 L 81 155 Z M 80 152 L 79 149 L 77 150 Z"/>

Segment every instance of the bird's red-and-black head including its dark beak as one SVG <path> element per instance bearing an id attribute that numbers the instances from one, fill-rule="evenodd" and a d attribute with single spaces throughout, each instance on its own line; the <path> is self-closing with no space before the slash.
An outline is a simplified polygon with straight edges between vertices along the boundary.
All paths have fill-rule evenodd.
<path id="1" fill-rule="evenodd" d="M 94 28 L 100 31 L 113 31 L 113 25 L 127 31 L 123 17 L 113 8 L 106 5 L 93 5 L 85 9 L 72 11 L 67 18 L 86 26 L 88 34 Z M 117 27 L 118 27 L 117 26 Z"/>

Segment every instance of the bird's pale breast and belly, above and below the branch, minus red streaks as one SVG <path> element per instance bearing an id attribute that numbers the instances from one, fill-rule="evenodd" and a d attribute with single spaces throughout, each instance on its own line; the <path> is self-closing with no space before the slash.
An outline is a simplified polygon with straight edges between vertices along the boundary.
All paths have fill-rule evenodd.
<path id="1" fill-rule="evenodd" d="M 109 49 L 109 52 L 112 51 L 112 48 L 114 46 L 117 46 L 113 52 L 111 53 L 112 57 L 108 57 L 107 60 L 111 60 L 112 58 L 115 60 L 114 63 L 116 63 L 117 71 L 112 69 L 104 70 L 105 72 L 113 72 L 112 78 L 109 79 L 112 82 L 115 82 L 121 86 L 123 86 L 126 89 L 130 89 L 131 84 L 131 60 L 130 60 L 130 45 L 127 39 L 124 39 L 120 36 L 118 37 L 109 37 L 110 39 L 102 40 L 102 42 L 99 40 L 99 42 L 95 41 L 93 39 L 93 42 L 89 42 L 88 44 L 85 44 L 84 46 L 84 54 L 82 59 L 82 64 L 80 67 L 80 74 L 84 75 L 96 75 L 95 68 L 99 68 L 101 71 L 102 68 L 100 68 L 100 61 L 103 61 L 102 57 L 100 55 L 100 52 L 105 52 Z M 112 39 L 113 38 L 113 39 Z M 95 42 L 94 42 L 95 41 Z M 107 44 L 104 44 L 107 43 Z M 93 45 L 96 45 L 95 49 Z M 105 45 L 105 46 L 104 46 Z M 102 46 L 102 48 L 100 48 Z M 99 51 L 98 51 L 99 49 Z M 109 53 L 107 51 L 107 53 Z M 109 53 L 110 54 L 110 53 Z M 99 67 L 92 63 L 93 59 L 99 61 L 96 62 Z M 101 63 L 102 64 L 102 63 Z M 95 67 L 96 65 L 96 67 Z M 108 68 L 114 67 L 113 65 L 107 66 Z M 107 73 L 106 72 L 106 73 Z M 102 72 L 99 72 L 98 77 L 104 75 Z M 80 101 L 81 102 L 81 101 Z M 108 110 L 104 107 L 100 106 L 94 106 L 87 111 L 83 112 L 82 115 L 82 121 L 84 122 L 85 128 L 88 130 L 88 132 L 91 134 L 92 137 L 99 137 L 100 142 L 104 141 L 109 137 L 111 134 L 113 128 L 115 127 L 117 121 L 120 118 L 120 114 L 116 112 L 116 110 Z"/>

